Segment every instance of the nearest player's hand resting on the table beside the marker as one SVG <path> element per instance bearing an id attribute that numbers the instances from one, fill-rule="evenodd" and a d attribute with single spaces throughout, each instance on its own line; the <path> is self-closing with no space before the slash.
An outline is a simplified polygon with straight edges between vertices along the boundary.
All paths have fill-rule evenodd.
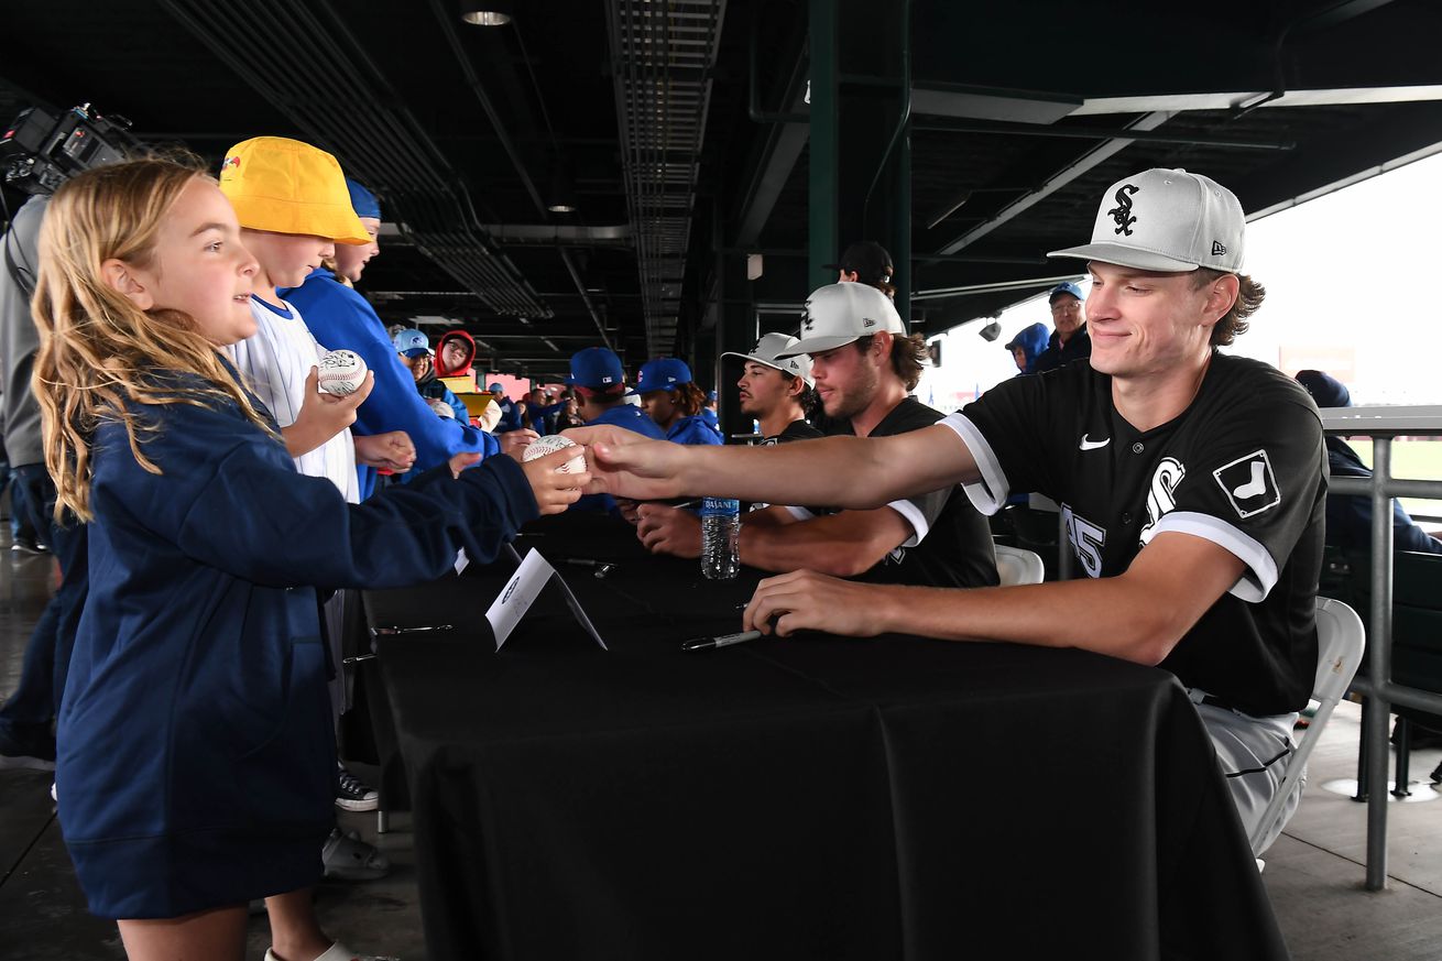
<path id="1" fill-rule="evenodd" d="M 796 570 L 767 577 L 756 586 L 741 626 L 747 631 L 787 636 L 796 631 L 825 631 L 852 638 L 885 633 L 884 584 L 861 584 Z"/>

